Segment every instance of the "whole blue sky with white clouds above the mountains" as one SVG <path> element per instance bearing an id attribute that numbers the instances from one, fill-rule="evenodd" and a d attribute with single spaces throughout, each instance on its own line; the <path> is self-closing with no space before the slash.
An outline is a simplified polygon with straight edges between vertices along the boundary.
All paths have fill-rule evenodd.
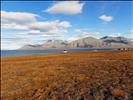
<path id="1" fill-rule="evenodd" d="M 132 1 L 1 1 L 1 49 L 47 40 L 133 38 Z"/>

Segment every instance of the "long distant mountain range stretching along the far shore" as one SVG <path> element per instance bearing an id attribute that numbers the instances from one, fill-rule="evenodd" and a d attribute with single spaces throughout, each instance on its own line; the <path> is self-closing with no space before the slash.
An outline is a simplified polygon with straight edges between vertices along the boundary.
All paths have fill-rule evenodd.
<path id="1" fill-rule="evenodd" d="M 105 36 L 100 39 L 86 37 L 72 42 L 48 40 L 41 45 L 25 45 L 21 50 L 66 49 L 66 48 L 122 48 L 133 47 L 133 41 L 125 37 Z"/>

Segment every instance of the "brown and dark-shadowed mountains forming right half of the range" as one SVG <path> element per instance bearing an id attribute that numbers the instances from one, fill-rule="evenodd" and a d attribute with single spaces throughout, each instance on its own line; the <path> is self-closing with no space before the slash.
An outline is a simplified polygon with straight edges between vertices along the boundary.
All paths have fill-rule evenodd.
<path id="1" fill-rule="evenodd" d="M 68 44 L 70 48 L 78 47 L 96 47 L 96 48 L 121 48 L 121 47 L 132 47 L 133 42 L 124 37 L 111 37 L 105 36 L 101 39 L 95 39 L 92 37 L 87 37 L 72 41 Z"/>

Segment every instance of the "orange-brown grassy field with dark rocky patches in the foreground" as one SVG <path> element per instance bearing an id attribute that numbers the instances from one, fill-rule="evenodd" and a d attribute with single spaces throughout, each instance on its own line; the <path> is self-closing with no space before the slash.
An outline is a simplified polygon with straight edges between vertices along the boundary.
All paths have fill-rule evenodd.
<path id="1" fill-rule="evenodd" d="M 133 51 L 1 58 L 3 100 L 133 100 Z"/>

